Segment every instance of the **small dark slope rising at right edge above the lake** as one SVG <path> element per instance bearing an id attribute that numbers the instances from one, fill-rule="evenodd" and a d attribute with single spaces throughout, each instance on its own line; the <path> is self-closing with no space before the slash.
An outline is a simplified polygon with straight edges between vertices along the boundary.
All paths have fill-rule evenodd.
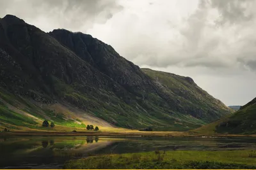
<path id="1" fill-rule="evenodd" d="M 232 115 L 195 130 L 200 133 L 256 134 L 256 98 Z"/>

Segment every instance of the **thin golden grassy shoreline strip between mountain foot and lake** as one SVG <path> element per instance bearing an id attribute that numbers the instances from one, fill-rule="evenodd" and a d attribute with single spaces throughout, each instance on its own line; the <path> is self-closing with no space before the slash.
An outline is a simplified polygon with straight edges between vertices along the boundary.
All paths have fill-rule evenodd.
<path id="1" fill-rule="evenodd" d="M 166 138 L 223 138 L 223 137 L 250 137 L 255 138 L 256 134 L 189 134 L 186 132 L 38 132 L 18 131 L 1 132 L 4 136 L 138 136 L 138 137 L 166 137 Z"/>

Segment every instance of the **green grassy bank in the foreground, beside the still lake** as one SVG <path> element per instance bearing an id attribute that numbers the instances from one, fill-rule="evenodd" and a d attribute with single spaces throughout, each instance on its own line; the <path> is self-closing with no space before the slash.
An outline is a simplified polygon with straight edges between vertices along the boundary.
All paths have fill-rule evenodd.
<path id="1" fill-rule="evenodd" d="M 126 153 L 69 160 L 64 169 L 255 169 L 256 152 L 171 151 Z"/>

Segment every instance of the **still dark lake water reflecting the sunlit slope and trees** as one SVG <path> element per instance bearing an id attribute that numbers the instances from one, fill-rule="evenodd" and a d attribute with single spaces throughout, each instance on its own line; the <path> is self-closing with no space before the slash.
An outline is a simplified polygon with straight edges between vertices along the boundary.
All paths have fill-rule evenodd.
<path id="1" fill-rule="evenodd" d="M 0 169 L 61 169 L 90 155 L 155 150 L 255 150 L 256 138 L 142 138 L 109 136 L 0 138 Z"/>

